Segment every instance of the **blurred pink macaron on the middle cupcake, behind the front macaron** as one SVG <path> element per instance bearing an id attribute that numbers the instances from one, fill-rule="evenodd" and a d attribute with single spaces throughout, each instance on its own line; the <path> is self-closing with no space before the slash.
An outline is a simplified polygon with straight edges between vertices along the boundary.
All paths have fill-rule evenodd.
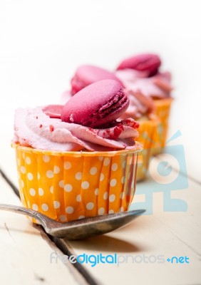
<path id="1" fill-rule="evenodd" d="M 71 79 L 71 94 L 74 95 L 86 86 L 105 79 L 113 79 L 123 85 L 114 73 L 107 71 L 106 69 L 90 65 L 80 66 Z"/>

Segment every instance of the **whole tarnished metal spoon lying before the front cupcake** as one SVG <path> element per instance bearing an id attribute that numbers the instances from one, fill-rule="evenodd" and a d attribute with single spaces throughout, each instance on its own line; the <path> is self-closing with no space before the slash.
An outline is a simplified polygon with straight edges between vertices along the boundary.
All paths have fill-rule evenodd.
<path id="1" fill-rule="evenodd" d="M 102 216 L 61 223 L 56 222 L 40 212 L 25 207 L 0 203 L 0 209 L 33 217 L 43 226 L 47 234 L 51 234 L 54 237 L 65 237 L 66 239 L 84 239 L 86 237 L 111 232 L 114 229 L 118 229 L 132 222 L 135 217 L 145 212 L 145 209 L 138 209 L 130 212 L 104 214 Z"/>

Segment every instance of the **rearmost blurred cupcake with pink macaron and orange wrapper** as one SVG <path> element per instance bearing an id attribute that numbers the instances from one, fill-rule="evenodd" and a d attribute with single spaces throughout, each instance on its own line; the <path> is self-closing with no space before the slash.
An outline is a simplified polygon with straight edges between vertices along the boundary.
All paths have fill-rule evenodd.
<path id="1" fill-rule="evenodd" d="M 159 154 L 165 147 L 172 104 L 171 75 L 160 71 L 160 66 L 159 56 L 148 53 L 125 59 L 115 72 L 125 88 L 153 99 L 155 115 L 160 119 L 153 138 L 153 155 Z"/>

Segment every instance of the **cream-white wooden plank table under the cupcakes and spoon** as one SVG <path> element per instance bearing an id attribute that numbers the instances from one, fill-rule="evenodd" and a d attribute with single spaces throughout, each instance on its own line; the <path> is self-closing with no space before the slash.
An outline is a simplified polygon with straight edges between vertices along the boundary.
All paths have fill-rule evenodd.
<path id="1" fill-rule="evenodd" d="M 176 101 L 172 109 L 169 137 L 177 133 L 177 125 L 172 123 L 177 104 Z M 6 128 L 9 131 L 5 130 L 1 138 L 0 197 L 1 202 L 20 204 L 14 192 L 17 177 L 14 150 L 9 144 L 12 132 L 9 122 Z M 180 127 L 181 132 L 182 129 L 185 126 Z M 175 146 L 184 151 L 182 155 L 178 156 L 178 150 L 170 152 Z M 27 284 L 28 280 L 29 284 L 66 284 L 66 280 L 68 284 L 200 284 L 199 153 L 186 148 L 182 135 L 169 143 L 168 152 L 153 158 L 150 177 L 137 184 L 132 207 L 147 212 L 109 234 L 82 241 L 52 239 L 40 227 L 33 227 L 26 217 L 1 211 L 1 284 Z M 154 175 L 165 160 L 172 170 L 159 182 L 161 175 Z M 91 257 L 91 262 L 72 264 L 65 259 L 72 254 L 96 258 L 100 254 L 112 255 L 118 263 L 94 265 L 95 257 Z"/>

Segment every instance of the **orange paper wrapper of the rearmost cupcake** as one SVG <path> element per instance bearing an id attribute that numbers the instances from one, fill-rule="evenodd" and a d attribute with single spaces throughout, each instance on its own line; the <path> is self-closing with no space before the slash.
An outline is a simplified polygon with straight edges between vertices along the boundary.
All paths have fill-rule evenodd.
<path id="1" fill-rule="evenodd" d="M 172 98 L 154 100 L 155 114 L 158 115 L 158 118 L 160 118 L 160 122 L 158 123 L 155 135 L 153 137 L 154 145 L 151 155 L 160 154 L 163 152 L 163 147 L 165 147 L 172 100 Z"/>

